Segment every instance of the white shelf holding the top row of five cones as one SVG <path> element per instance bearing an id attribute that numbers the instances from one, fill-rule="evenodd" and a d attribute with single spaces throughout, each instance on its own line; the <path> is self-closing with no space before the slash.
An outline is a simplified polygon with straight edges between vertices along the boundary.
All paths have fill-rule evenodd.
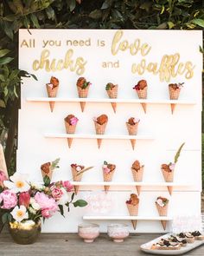
<path id="1" fill-rule="evenodd" d="M 27 102 L 118 102 L 118 103 L 150 103 L 150 104 L 182 104 L 195 105 L 196 102 L 184 100 L 143 100 L 143 99 L 109 99 L 109 98 L 49 98 L 27 97 Z"/>

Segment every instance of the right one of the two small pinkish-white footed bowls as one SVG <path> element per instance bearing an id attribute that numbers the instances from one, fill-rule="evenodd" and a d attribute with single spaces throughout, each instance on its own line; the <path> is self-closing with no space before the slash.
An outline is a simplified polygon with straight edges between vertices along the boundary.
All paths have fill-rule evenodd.
<path id="1" fill-rule="evenodd" d="M 108 225 L 108 235 L 116 243 L 121 243 L 129 236 L 129 226 L 125 224 Z"/>

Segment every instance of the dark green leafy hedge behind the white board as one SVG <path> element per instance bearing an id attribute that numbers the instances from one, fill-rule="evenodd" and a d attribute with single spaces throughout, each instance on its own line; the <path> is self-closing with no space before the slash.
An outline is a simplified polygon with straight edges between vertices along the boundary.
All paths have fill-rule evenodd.
<path id="1" fill-rule="evenodd" d="M 20 28 L 201 30 L 204 10 L 201 0 L 0 0 L 0 141 L 10 174 L 21 76 L 29 75 L 17 66 Z"/>

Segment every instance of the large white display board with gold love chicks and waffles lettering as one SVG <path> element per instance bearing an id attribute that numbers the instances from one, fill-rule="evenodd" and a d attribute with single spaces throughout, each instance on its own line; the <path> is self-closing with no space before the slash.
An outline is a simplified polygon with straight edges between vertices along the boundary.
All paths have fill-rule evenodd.
<path id="1" fill-rule="evenodd" d="M 156 220 L 155 200 L 160 195 L 169 198 L 168 220 L 201 212 L 201 43 L 201 31 L 195 30 L 19 31 L 19 68 L 35 74 L 38 81 L 23 78 L 17 172 L 41 181 L 41 164 L 60 157 L 53 179 L 71 180 L 72 163 L 94 166 L 83 175 L 77 195 L 89 206 L 72 208 L 65 219 L 54 216 L 42 226 L 43 232 L 77 232 L 83 221 L 99 223 L 101 232 L 110 222 L 129 223 L 136 233 L 163 232 Z M 53 113 L 46 91 L 52 75 L 60 81 Z M 92 82 L 83 113 L 76 88 L 80 76 Z M 132 89 L 141 79 L 148 83 L 146 114 Z M 108 82 L 118 84 L 116 114 L 105 91 Z M 173 115 L 168 90 L 172 82 L 184 82 Z M 79 118 L 71 148 L 64 137 L 64 118 L 69 114 Z M 101 114 L 109 121 L 98 148 L 92 118 Z M 131 116 L 140 119 L 135 150 L 126 136 L 125 122 Z M 160 166 L 174 160 L 184 141 L 169 195 Z M 129 216 L 125 201 L 137 193 L 131 184 L 135 160 L 145 166 L 136 230 L 131 220 L 121 220 Z M 103 161 L 117 166 L 108 194 L 100 183 Z M 169 221 L 167 231 L 170 228 Z"/>

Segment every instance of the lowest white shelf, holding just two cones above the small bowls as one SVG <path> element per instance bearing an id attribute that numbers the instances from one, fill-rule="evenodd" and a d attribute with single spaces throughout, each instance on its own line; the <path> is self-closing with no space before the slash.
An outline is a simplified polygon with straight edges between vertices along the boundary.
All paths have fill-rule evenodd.
<path id="1" fill-rule="evenodd" d="M 83 220 L 173 220 L 169 216 L 83 216 Z"/>

